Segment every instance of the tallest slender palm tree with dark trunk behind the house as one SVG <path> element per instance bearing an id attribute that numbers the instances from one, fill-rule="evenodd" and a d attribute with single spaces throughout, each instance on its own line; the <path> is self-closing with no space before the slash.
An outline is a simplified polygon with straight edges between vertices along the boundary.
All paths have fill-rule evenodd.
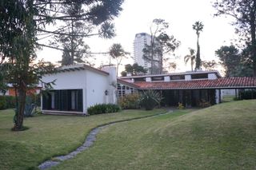
<path id="1" fill-rule="evenodd" d="M 194 23 L 193 30 L 195 30 L 196 34 L 198 35 L 198 41 L 197 41 L 198 50 L 197 50 L 197 55 L 196 55 L 196 59 L 195 59 L 195 69 L 200 69 L 200 67 L 201 67 L 199 35 L 200 35 L 200 32 L 202 31 L 202 29 L 203 29 L 202 22 L 195 22 Z"/>

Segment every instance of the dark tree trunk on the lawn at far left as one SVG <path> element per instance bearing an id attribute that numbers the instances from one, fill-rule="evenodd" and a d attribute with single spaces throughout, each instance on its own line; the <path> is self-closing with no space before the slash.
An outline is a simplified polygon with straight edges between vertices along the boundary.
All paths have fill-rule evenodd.
<path id="1" fill-rule="evenodd" d="M 20 131 L 23 128 L 23 117 L 26 104 L 26 87 L 21 85 L 18 88 L 18 108 L 16 108 L 16 115 L 14 117 L 14 131 Z"/>

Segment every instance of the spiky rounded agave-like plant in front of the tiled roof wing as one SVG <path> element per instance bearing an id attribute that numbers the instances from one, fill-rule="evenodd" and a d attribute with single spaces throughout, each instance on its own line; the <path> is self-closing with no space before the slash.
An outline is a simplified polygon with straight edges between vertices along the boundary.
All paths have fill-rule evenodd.
<path id="1" fill-rule="evenodd" d="M 141 93 L 140 104 L 146 110 L 152 110 L 156 105 L 160 105 L 162 96 L 154 90 L 146 90 Z"/>

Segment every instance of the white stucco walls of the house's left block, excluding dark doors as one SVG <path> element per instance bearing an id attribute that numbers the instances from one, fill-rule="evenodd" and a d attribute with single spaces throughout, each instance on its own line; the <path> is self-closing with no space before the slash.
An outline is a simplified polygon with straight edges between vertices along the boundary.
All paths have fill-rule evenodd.
<path id="1" fill-rule="evenodd" d="M 109 75 L 92 70 L 76 70 L 46 74 L 42 81 L 55 80 L 53 89 L 82 89 L 83 113 L 91 105 L 109 103 L 105 91 L 109 89 Z"/>

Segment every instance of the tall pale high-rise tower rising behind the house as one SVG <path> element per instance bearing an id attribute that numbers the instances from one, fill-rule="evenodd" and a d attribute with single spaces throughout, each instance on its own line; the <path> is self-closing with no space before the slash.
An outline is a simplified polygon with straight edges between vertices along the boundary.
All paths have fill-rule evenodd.
<path id="1" fill-rule="evenodd" d="M 150 34 L 146 33 L 140 33 L 135 35 L 134 39 L 134 62 L 138 63 L 138 65 L 141 65 L 145 69 L 148 69 L 148 73 L 150 73 L 150 69 L 153 69 L 153 73 L 158 73 L 159 69 L 159 57 L 154 56 L 154 65 L 151 66 L 151 61 L 146 60 L 143 57 L 143 49 L 146 47 L 146 45 L 150 45 L 151 42 L 151 36 Z M 156 43 L 157 44 L 157 43 Z M 157 62 L 156 62 L 157 61 Z"/>

